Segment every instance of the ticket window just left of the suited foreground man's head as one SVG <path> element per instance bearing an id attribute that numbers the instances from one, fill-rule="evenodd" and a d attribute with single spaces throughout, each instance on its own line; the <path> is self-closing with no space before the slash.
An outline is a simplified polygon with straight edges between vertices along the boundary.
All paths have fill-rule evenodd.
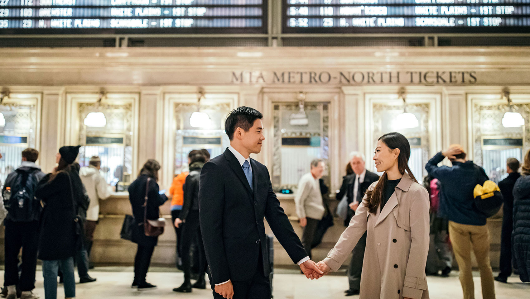
<path id="1" fill-rule="evenodd" d="M 168 147 L 173 161 L 170 178 L 188 171 L 188 154 L 192 150 L 206 149 L 210 159 L 221 155 L 230 145 L 225 133 L 226 115 L 232 110 L 235 98 L 226 95 L 201 95 L 200 107 L 197 95 L 169 95 L 166 100 L 171 109 L 172 130 L 167 132 L 172 144 Z M 204 120 L 194 119 L 201 112 Z M 170 183 L 170 182 L 168 182 Z"/>

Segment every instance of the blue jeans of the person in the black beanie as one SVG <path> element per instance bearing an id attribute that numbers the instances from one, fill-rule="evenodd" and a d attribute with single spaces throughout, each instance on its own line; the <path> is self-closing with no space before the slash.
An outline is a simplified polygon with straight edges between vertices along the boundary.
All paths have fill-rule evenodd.
<path id="1" fill-rule="evenodd" d="M 69 257 L 63 260 L 42 261 L 45 299 L 57 299 L 57 273 L 59 267 L 64 275 L 65 297 L 75 297 L 74 258 Z"/>

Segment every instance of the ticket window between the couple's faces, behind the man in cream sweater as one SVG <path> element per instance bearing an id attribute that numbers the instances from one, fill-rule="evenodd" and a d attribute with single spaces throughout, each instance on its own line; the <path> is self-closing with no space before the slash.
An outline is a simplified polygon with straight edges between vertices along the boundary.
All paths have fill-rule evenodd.
<path id="1" fill-rule="evenodd" d="M 294 191 L 311 170 L 311 161 L 324 160 L 324 184 L 330 186 L 329 103 L 273 102 L 272 187 Z"/>

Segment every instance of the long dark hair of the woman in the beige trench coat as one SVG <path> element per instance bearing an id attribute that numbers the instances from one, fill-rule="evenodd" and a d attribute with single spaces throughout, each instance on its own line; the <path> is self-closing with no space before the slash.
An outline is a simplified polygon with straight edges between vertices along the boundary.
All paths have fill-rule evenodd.
<path id="1" fill-rule="evenodd" d="M 378 140 L 381 140 L 386 144 L 388 148 L 394 150 L 398 148 L 400 150 L 398 156 L 398 169 L 402 175 L 405 175 L 405 171 L 409 174 L 412 180 L 418 183 L 418 180 L 412 174 L 412 171 L 409 168 L 409 158 L 410 158 L 410 143 L 406 137 L 397 132 L 392 132 L 384 134 Z M 385 189 L 385 183 L 387 179 L 386 171 L 379 178 L 375 188 L 366 192 L 366 203 L 368 207 L 368 212 L 375 214 L 377 213 L 377 207 L 381 204 L 381 198 L 383 197 L 383 190 Z"/>

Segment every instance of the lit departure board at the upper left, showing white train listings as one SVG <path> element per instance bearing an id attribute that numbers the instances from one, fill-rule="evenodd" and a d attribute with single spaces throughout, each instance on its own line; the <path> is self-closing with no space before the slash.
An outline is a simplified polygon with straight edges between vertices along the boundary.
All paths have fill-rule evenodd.
<path id="1" fill-rule="evenodd" d="M 0 0 L 0 34 L 266 33 L 267 0 Z"/>

